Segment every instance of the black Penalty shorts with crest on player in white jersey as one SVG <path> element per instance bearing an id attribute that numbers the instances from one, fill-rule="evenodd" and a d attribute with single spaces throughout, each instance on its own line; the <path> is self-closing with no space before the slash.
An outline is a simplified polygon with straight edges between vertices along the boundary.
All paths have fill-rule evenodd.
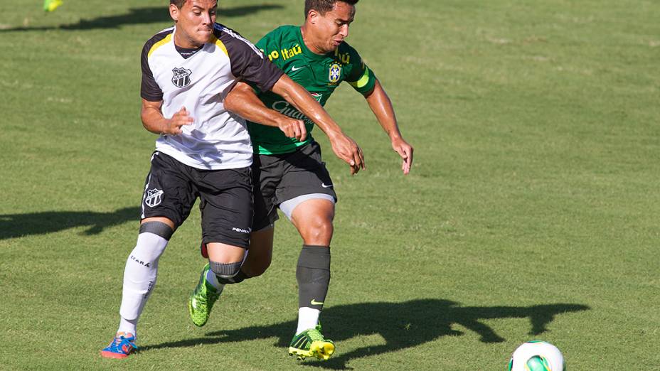
<path id="1" fill-rule="evenodd" d="M 179 227 L 200 198 L 202 241 L 248 247 L 252 226 L 252 170 L 201 170 L 162 152 L 151 156 L 142 219 L 167 217 Z"/>

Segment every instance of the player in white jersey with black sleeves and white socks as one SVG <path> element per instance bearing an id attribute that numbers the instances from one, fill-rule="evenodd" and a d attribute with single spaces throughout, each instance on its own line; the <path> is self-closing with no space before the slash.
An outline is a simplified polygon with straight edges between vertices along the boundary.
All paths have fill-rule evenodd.
<path id="1" fill-rule="evenodd" d="M 156 284 L 158 262 L 171 235 L 200 198 L 202 240 L 214 274 L 238 274 L 252 226 L 252 144 L 245 120 L 224 99 L 244 80 L 276 92 L 313 117 L 335 154 L 363 166 L 361 149 L 320 104 L 238 33 L 215 23 L 215 0 L 170 0 L 174 27 L 142 50 L 142 123 L 160 134 L 142 196 L 137 244 L 124 269 L 119 328 L 103 357 L 124 358 L 135 345 L 137 321 Z M 280 115 L 273 126 L 303 139 L 302 121 Z"/>

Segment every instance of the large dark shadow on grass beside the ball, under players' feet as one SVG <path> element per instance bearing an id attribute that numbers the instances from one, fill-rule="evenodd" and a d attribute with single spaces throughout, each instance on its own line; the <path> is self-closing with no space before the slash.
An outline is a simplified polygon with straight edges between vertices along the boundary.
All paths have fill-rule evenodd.
<path id="1" fill-rule="evenodd" d="M 556 315 L 586 311 L 580 304 L 545 304 L 538 306 L 459 306 L 454 301 L 420 299 L 403 303 L 359 303 L 333 306 L 323 311 L 324 335 L 338 345 L 338 353 L 326 362 L 307 361 L 305 365 L 334 370 L 345 370 L 348 361 L 383 353 L 414 348 L 442 336 L 459 336 L 454 324 L 468 328 L 479 335 L 482 343 L 505 341 L 483 320 L 494 318 L 529 318 L 529 335 L 544 333 Z M 191 347 L 198 344 L 232 343 L 245 340 L 277 338 L 275 346 L 286 351 L 296 328 L 295 321 L 270 326 L 253 326 L 238 330 L 220 330 L 207 333 L 204 338 L 181 340 L 158 345 L 147 345 L 142 350 L 157 348 Z M 380 335 L 375 344 L 353 350 L 342 350 L 341 341 L 361 335 Z"/>

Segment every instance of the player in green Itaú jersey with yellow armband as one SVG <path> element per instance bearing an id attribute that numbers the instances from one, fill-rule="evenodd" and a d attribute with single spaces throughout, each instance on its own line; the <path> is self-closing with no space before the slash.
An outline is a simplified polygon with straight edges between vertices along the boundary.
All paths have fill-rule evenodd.
<path id="1" fill-rule="evenodd" d="M 404 174 L 413 163 L 413 147 L 398 129 L 392 104 L 371 69 L 344 39 L 355 16 L 358 0 L 306 0 L 302 26 L 282 26 L 257 42 L 257 48 L 292 80 L 305 87 L 321 105 L 342 81 L 366 98 L 376 119 L 403 160 Z M 256 95 L 255 95 L 256 93 Z M 257 99 L 258 97 L 258 99 Z M 235 100 L 234 100 L 235 98 Z M 249 103 L 248 103 L 249 102 Z M 324 338 L 319 325 L 330 281 L 330 242 L 337 200 L 321 149 L 314 141 L 314 117 L 305 117 L 283 97 L 239 82 L 225 100 L 225 108 L 248 119 L 255 146 L 252 168 L 255 183 L 255 219 L 248 257 L 230 279 L 215 276 L 208 266 L 188 301 L 193 323 L 203 326 L 225 284 L 262 274 L 270 265 L 277 208 L 287 215 L 303 240 L 296 278 L 298 327 L 289 354 L 299 359 L 328 359 L 334 343 Z M 303 140 L 289 138 L 277 128 L 256 122 L 275 122 L 286 115 L 307 128 Z M 279 118 L 281 119 L 281 118 Z M 360 167 L 353 166 L 351 173 Z M 202 246 L 202 254 L 204 247 Z"/>

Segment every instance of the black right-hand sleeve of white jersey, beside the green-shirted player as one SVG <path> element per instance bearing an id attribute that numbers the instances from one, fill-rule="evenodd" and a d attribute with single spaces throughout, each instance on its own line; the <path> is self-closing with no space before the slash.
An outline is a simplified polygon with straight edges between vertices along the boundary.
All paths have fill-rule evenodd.
<path id="1" fill-rule="evenodd" d="M 252 45 L 229 28 L 223 28 L 218 39 L 225 44 L 231 63 L 231 72 L 250 85 L 265 92 L 272 90 L 273 85 L 284 72 L 265 58 L 261 50 Z"/>

